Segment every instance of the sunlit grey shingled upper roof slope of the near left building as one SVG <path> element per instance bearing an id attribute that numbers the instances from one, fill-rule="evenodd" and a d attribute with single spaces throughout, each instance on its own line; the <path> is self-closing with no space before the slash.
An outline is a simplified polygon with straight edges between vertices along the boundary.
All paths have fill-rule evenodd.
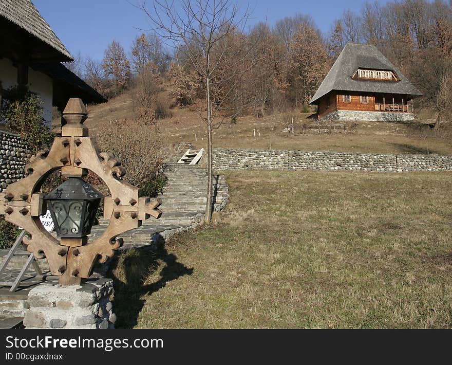
<path id="1" fill-rule="evenodd" d="M 73 61 L 69 51 L 34 7 L 31 0 L 0 0 L 0 16 L 51 46 L 60 53 L 60 61 Z"/>

